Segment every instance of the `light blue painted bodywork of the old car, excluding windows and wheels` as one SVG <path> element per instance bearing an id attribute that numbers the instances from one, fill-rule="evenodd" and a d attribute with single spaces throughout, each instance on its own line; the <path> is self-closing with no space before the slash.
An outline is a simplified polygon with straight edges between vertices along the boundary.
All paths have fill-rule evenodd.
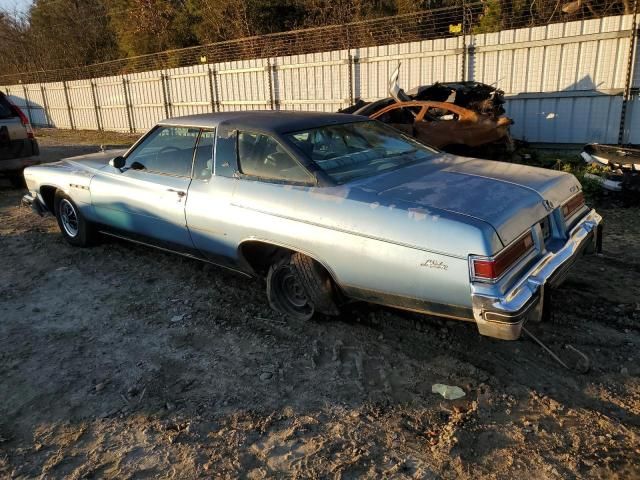
<path id="1" fill-rule="evenodd" d="M 25 178 L 35 195 L 43 187 L 58 188 L 87 219 L 150 243 L 247 273 L 246 242 L 286 247 L 320 262 L 347 296 L 477 321 L 484 317 L 472 312 L 473 295 L 507 294 L 532 265 L 564 248 L 587 215 L 584 207 L 569 224 L 560 213 L 581 188 L 572 175 L 441 153 L 342 185 L 314 171 L 315 185 L 238 174 L 238 129 L 267 132 L 288 145 L 286 132 L 341 121 L 363 119 L 242 112 L 161 122 L 216 129 L 214 175 L 206 180 L 108 165 L 122 152 L 30 167 Z M 548 238 L 543 222 L 550 225 Z M 499 282 L 474 285 L 469 256 L 495 255 L 526 232 L 536 239 L 535 250 Z"/>

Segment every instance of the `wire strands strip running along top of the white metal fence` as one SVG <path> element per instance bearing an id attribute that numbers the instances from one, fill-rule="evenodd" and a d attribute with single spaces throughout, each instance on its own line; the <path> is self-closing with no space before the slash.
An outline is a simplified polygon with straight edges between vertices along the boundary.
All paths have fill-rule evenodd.
<path id="1" fill-rule="evenodd" d="M 0 84 L 58 82 L 185 67 L 200 63 L 269 58 L 357 49 L 460 35 L 533 27 L 554 22 L 632 13 L 629 3 L 611 0 L 557 1 L 514 9 L 514 2 L 486 0 L 373 20 L 294 30 L 167 50 L 88 66 L 0 75 Z M 633 4 L 631 4 L 631 8 Z"/>

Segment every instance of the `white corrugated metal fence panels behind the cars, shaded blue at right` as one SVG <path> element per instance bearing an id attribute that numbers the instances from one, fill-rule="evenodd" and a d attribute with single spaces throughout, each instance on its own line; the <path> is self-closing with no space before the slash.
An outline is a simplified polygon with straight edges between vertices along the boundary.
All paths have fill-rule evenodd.
<path id="1" fill-rule="evenodd" d="M 640 98 L 622 115 L 632 16 L 287 57 L 201 64 L 2 87 L 39 126 L 142 132 L 158 120 L 211 111 L 336 111 L 404 87 L 466 80 L 501 88 L 516 138 L 549 143 L 640 143 Z M 635 54 L 633 55 L 635 57 Z M 640 86 L 634 68 L 632 87 Z"/>

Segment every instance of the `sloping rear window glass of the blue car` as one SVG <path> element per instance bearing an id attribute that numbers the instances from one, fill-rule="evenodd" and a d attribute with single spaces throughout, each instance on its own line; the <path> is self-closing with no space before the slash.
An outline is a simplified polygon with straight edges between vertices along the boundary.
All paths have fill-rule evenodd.
<path id="1" fill-rule="evenodd" d="M 427 160 L 437 153 L 375 121 L 327 125 L 286 137 L 338 184 Z"/>

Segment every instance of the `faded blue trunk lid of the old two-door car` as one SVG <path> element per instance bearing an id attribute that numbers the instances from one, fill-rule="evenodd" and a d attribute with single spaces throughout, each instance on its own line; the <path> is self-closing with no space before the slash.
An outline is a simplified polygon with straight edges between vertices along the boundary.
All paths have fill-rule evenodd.
<path id="1" fill-rule="evenodd" d="M 381 203 L 437 208 L 489 223 L 507 245 L 580 189 L 570 174 L 442 155 L 353 184 Z"/>

